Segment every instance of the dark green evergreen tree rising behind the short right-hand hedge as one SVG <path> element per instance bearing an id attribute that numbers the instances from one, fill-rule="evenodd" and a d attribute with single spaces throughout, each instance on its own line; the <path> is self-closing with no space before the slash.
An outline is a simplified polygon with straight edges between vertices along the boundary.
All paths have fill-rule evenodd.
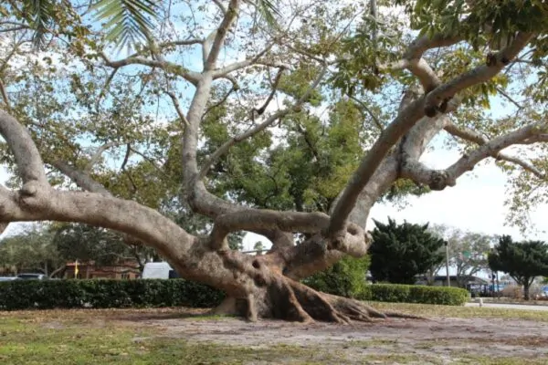
<path id="1" fill-rule="evenodd" d="M 444 240 L 428 232 L 428 224 L 396 224 L 390 218 L 374 224 L 369 270 L 375 281 L 415 284 L 416 275 L 443 261 Z"/>

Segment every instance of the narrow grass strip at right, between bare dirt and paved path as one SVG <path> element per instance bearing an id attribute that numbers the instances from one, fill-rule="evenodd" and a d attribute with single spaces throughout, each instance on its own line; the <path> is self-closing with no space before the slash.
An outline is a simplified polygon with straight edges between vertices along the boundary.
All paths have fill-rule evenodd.
<path id="1" fill-rule="evenodd" d="M 548 311 L 541 310 L 454 307 L 410 303 L 368 302 L 367 304 L 381 310 L 397 310 L 427 318 L 516 318 L 548 322 Z"/>

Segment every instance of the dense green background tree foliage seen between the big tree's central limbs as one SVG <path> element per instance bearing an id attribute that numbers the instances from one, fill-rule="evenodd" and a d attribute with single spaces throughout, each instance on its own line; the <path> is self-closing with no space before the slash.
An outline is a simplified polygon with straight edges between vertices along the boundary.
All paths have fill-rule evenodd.
<path id="1" fill-rule="evenodd" d="M 219 117 L 204 121 L 205 155 L 231 134 Z M 260 208 L 327 213 L 364 153 L 360 111 L 353 101 L 341 100 L 327 126 L 303 111 L 283 120 L 283 128 L 285 142 L 276 147 L 267 133 L 234 146 L 209 173 L 212 188 Z"/>

